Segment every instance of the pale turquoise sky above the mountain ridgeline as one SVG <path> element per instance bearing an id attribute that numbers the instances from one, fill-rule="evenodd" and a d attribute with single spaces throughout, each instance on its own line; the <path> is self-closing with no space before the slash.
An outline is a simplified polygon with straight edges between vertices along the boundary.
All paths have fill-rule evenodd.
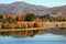
<path id="1" fill-rule="evenodd" d="M 0 0 L 0 3 L 12 3 L 18 1 L 23 1 L 31 4 L 44 6 L 50 8 L 66 6 L 66 0 Z"/>

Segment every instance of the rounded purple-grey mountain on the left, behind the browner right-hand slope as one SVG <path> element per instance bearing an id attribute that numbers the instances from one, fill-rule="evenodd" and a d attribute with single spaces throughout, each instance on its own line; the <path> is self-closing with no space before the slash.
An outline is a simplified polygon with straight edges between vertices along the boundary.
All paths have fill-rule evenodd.
<path id="1" fill-rule="evenodd" d="M 0 4 L 0 13 L 24 14 L 29 12 L 37 13 L 37 11 L 46 10 L 48 8 L 42 6 L 29 4 L 25 2 L 13 2 L 9 4 Z"/>

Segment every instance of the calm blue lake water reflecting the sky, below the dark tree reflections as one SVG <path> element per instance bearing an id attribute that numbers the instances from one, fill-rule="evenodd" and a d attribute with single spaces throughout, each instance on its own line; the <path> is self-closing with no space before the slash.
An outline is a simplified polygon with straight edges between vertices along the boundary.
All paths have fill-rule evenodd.
<path id="1" fill-rule="evenodd" d="M 66 36 L 45 33 L 33 37 L 0 36 L 0 44 L 66 44 Z"/>

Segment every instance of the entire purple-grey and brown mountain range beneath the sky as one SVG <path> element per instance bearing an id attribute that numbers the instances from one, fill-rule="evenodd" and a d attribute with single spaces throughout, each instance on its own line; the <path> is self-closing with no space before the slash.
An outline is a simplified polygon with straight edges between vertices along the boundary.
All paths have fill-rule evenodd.
<path id="1" fill-rule="evenodd" d="M 0 3 L 0 14 L 9 13 L 9 14 L 26 14 L 26 13 L 35 13 L 36 15 L 61 15 L 66 14 L 66 6 L 62 7 L 53 7 L 47 8 L 43 6 L 30 4 L 26 2 L 13 2 L 13 3 Z"/>

